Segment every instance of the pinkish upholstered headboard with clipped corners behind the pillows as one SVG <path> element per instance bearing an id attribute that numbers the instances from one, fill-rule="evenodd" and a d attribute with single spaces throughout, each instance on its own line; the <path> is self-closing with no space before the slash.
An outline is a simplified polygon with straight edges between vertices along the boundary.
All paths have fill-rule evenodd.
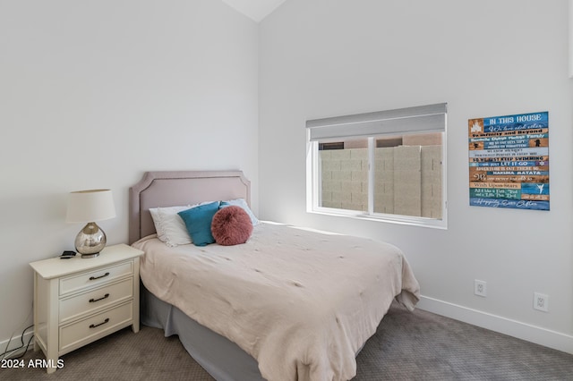
<path id="1" fill-rule="evenodd" d="M 150 207 L 175 207 L 202 201 L 245 199 L 251 205 L 251 182 L 241 171 L 146 172 L 129 189 L 129 242 L 155 233 Z"/>

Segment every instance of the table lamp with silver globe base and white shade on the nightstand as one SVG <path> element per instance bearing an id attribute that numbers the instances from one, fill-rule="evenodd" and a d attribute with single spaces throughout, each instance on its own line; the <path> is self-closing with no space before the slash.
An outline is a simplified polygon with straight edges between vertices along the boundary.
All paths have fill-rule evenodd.
<path id="1" fill-rule="evenodd" d="M 114 199 L 111 190 L 78 190 L 68 195 L 65 221 L 87 223 L 75 237 L 75 250 L 81 258 L 98 257 L 106 247 L 106 233 L 95 221 L 115 217 Z"/>

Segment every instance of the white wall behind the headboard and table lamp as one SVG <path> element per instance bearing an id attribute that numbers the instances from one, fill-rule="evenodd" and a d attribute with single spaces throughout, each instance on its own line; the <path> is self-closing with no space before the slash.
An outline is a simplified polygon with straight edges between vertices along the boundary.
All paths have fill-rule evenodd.
<path id="1" fill-rule="evenodd" d="M 67 192 L 114 191 L 110 243 L 144 171 L 242 169 L 257 208 L 257 49 L 218 1 L 0 0 L 0 352 L 31 323 L 28 263 L 73 250 Z"/>

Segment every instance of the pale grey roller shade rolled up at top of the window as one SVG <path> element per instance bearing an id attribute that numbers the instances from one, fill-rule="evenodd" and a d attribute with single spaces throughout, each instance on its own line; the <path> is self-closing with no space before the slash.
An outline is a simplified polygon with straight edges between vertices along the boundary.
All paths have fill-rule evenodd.
<path id="1" fill-rule="evenodd" d="M 445 125 L 445 103 L 335 116 L 306 122 L 311 141 L 351 136 L 443 131 Z"/>

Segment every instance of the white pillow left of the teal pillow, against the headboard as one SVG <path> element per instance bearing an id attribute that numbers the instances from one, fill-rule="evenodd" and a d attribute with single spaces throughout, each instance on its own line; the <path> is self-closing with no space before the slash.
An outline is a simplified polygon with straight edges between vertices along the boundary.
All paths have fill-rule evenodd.
<path id="1" fill-rule="evenodd" d="M 169 247 L 192 243 L 183 219 L 177 213 L 192 208 L 191 205 L 180 207 L 150 207 L 151 218 L 155 224 L 159 241 Z"/>

